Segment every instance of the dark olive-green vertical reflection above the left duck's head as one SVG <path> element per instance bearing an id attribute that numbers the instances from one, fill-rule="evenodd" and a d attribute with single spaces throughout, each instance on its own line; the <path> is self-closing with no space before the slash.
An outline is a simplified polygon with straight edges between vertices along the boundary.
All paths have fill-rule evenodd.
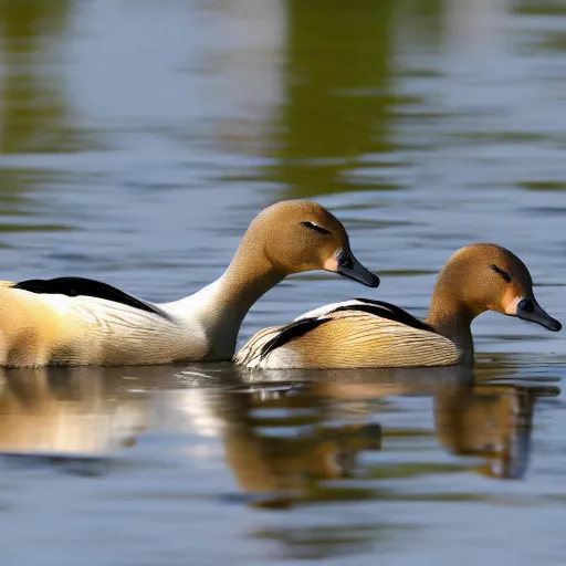
<path id="1" fill-rule="evenodd" d="M 391 20 L 395 2 L 289 1 L 286 101 L 274 180 L 285 198 L 359 189 L 361 156 L 392 149 Z M 397 101 L 399 102 L 399 101 Z M 377 185 L 379 174 L 371 177 Z"/>

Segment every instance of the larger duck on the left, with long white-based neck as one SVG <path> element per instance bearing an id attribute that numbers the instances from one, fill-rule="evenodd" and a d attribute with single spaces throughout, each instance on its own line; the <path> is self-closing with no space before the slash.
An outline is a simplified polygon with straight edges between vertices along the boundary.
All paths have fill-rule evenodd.
<path id="1" fill-rule="evenodd" d="M 292 273 L 379 277 L 321 205 L 285 200 L 248 227 L 226 272 L 175 302 L 151 303 L 84 277 L 0 282 L 0 366 L 142 366 L 229 361 L 250 307 Z"/>

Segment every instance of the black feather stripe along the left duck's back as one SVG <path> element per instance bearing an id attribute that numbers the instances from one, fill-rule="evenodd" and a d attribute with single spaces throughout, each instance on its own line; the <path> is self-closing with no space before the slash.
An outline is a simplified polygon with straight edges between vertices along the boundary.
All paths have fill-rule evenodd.
<path id="1" fill-rule="evenodd" d="M 134 308 L 139 308 L 147 313 L 164 316 L 164 313 L 155 306 L 146 303 L 135 296 L 128 295 L 119 289 L 113 287 L 107 283 L 102 283 L 85 277 L 56 277 L 56 279 L 30 279 L 20 281 L 12 285 L 12 289 L 21 289 L 30 293 L 49 294 L 49 295 L 66 295 L 66 296 L 93 296 L 105 298 Z"/>

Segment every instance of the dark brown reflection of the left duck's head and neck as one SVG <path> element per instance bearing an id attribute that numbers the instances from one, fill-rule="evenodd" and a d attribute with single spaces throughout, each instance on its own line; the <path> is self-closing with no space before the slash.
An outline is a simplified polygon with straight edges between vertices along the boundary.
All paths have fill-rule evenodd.
<path id="1" fill-rule="evenodd" d="M 361 451 L 381 448 L 379 423 L 326 420 L 323 399 L 308 388 L 259 389 L 232 401 L 222 434 L 226 461 L 255 505 L 319 499 L 322 480 L 349 478 Z"/>

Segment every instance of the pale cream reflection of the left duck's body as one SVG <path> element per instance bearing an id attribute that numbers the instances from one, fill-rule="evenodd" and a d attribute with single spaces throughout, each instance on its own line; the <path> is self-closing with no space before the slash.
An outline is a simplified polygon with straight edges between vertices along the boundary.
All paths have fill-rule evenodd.
<path id="1" fill-rule="evenodd" d="M 239 384 L 234 379 L 228 364 L 182 373 L 167 366 L 0 368 L 0 453 L 103 455 L 133 447 L 148 429 L 200 434 L 208 417 L 218 421 L 209 398 L 219 385 Z"/>

